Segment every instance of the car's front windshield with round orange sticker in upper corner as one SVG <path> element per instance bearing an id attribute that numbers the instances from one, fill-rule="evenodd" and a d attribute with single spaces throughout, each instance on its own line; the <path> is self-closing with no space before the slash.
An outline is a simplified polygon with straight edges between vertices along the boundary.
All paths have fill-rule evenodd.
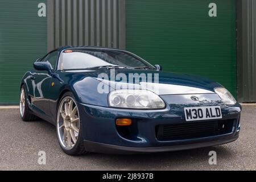
<path id="1" fill-rule="evenodd" d="M 155 69 L 151 64 L 125 51 L 115 49 L 68 49 L 61 53 L 60 69 L 89 68 Z"/>

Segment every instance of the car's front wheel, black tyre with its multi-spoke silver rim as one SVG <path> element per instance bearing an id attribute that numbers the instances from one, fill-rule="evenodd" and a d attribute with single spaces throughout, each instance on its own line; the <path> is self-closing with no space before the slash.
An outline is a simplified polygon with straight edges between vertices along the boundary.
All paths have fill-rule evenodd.
<path id="1" fill-rule="evenodd" d="M 87 154 L 82 141 L 79 107 L 72 92 L 66 92 L 57 109 L 56 133 L 60 147 L 68 155 Z M 77 131 L 79 131 L 77 133 Z"/>

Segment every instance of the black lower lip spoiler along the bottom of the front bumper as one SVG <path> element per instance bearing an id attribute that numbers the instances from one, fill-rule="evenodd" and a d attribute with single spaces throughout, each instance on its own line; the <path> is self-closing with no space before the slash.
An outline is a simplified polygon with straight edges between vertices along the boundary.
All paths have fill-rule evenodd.
<path id="1" fill-rule="evenodd" d="M 238 139 L 239 135 L 232 138 L 226 138 L 221 140 L 214 140 L 210 142 L 200 142 L 192 144 L 181 144 L 175 146 L 164 146 L 164 147 L 125 147 L 116 146 L 113 144 L 97 143 L 84 140 L 85 150 L 88 152 L 97 152 L 104 154 L 145 154 L 145 153 L 157 153 L 157 152 L 168 152 L 168 151 L 179 151 L 179 150 L 189 150 L 193 148 L 217 146 L 220 144 L 225 144 L 233 142 Z"/>

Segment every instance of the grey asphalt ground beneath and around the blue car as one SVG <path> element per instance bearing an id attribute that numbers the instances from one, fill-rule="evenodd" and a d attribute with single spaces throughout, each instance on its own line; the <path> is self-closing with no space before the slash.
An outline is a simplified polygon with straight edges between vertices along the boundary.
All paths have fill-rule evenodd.
<path id="1" fill-rule="evenodd" d="M 3 107 L 5 108 L 5 107 Z M 55 127 L 46 121 L 23 122 L 18 109 L 0 107 L 0 170 L 255 170 L 256 105 L 243 106 L 240 138 L 221 146 L 143 155 L 68 156 Z M 39 151 L 46 164 L 39 164 Z M 209 164 L 216 151 L 217 164 Z"/>

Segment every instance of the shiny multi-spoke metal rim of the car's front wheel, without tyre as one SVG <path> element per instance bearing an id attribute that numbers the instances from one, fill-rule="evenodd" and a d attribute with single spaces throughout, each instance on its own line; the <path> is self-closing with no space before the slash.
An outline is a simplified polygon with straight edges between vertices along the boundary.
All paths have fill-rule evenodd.
<path id="1" fill-rule="evenodd" d="M 76 102 L 72 97 L 65 97 L 60 102 L 57 114 L 57 135 L 61 146 L 71 150 L 79 137 L 80 118 Z"/>

